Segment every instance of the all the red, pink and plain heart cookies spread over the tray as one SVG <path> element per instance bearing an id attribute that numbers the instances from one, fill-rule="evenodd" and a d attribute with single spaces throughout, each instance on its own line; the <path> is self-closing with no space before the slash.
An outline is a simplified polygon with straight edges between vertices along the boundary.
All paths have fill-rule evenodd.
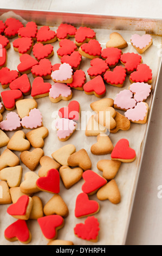
<path id="1" fill-rule="evenodd" d="M 12 41 L 12 46 L 20 54 L 20 63 L 17 70 L 10 70 L 7 50 L 11 47 L 9 39 L 16 36 L 18 38 Z M 69 38 L 74 38 L 74 41 Z M 51 44 L 57 40 L 60 46 L 57 56 L 61 63 L 52 65 L 49 58 L 54 55 L 54 47 Z M 74 234 L 83 240 L 98 241 L 99 221 L 94 215 L 99 212 L 100 205 L 90 196 L 96 194 L 98 200 L 120 203 L 121 194 L 114 178 L 121 163 L 133 162 L 136 158 L 127 139 L 121 138 L 113 145 L 107 134 L 127 131 L 131 123 L 145 124 L 148 114 L 145 100 L 152 90 L 152 70 L 142 63 L 140 55 L 151 46 L 152 38 L 147 34 L 134 34 L 130 41 L 138 53 L 122 53 L 121 49 L 128 44 L 116 32 L 111 33 L 106 48 L 102 49 L 96 33 L 89 27 L 76 29 L 61 23 L 54 32 L 48 26 L 38 29 L 33 21 L 25 26 L 15 18 L 0 21 L 0 82 L 3 88 L 0 96 L 0 148 L 6 147 L 0 156 L 0 204 L 10 204 L 7 214 L 17 219 L 4 230 L 7 240 L 29 243 L 32 235 L 27 221 L 37 220 L 48 245 L 73 245 L 73 241 L 57 240 L 57 231 L 63 228 L 64 218 L 70 214 L 68 205 L 59 194 L 60 182 L 69 190 L 82 179 L 82 192 L 76 197 L 74 214 L 76 218 L 86 217 L 86 220 L 75 225 Z M 90 59 L 88 82 L 85 72 L 80 69 L 82 58 Z M 28 74 L 34 78 L 32 85 Z M 127 76 L 131 83 L 128 89 L 121 90 L 114 99 L 105 97 L 105 84 L 122 88 Z M 44 80 L 51 80 L 53 84 Z M 69 101 L 74 89 L 98 98 L 89 102 L 95 114 L 88 120 L 85 136 L 96 136 L 97 141 L 90 148 L 93 155 L 111 154 L 111 160 L 101 159 L 96 163 L 102 175 L 92 170 L 87 151 L 83 148 L 76 151 L 73 144 L 64 145 L 51 156 L 44 155 L 44 140 L 49 131 L 43 125 L 36 99 L 49 97 L 53 103 Z M 25 99 L 29 95 L 31 97 Z M 8 114 L 3 120 L 5 111 Z M 55 127 L 60 141 L 67 141 L 76 131 L 80 114 L 81 106 L 76 100 L 59 109 Z M 30 131 L 25 133 L 23 129 Z M 11 138 L 5 133 L 9 131 L 14 131 Z M 31 147 L 34 148 L 32 151 Z M 20 159 L 13 151 L 20 152 Z M 29 169 L 23 181 L 21 162 Z M 34 171 L 39 164 L 41 168 L 36 174 Z M 35 195 L 41 191 L 53 194 L 45 205 Z"/>

